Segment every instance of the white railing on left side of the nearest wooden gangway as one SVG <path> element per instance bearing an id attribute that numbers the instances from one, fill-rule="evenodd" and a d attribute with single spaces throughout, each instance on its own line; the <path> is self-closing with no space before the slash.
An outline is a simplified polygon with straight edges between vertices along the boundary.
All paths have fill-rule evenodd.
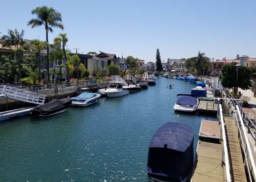
<path id="1" fill-rule="evenodd" d="M 219 99 L 218 99 L 219 100 Z M 228 152 L 227 152 L 227 140 L 226 140 L 226 132 L 224 128 L 224 120 L 222 115 L 222 106 L 218 104 L 218 113 L 217 113 L 219 124 L 221 124 L 220 128 L 220 139 L 219 143 L 221 143 L 221 135 L 223 140 L 223 151 L 222 151 L 222 158 L 221 158 L 221 166 L 223 166 L 224 156 L 225 156 L 225 167 L 226 167 L 226 182 L 230 182 L 230 171 L 229 171 L 229 163 L 228 163 Z"/>

